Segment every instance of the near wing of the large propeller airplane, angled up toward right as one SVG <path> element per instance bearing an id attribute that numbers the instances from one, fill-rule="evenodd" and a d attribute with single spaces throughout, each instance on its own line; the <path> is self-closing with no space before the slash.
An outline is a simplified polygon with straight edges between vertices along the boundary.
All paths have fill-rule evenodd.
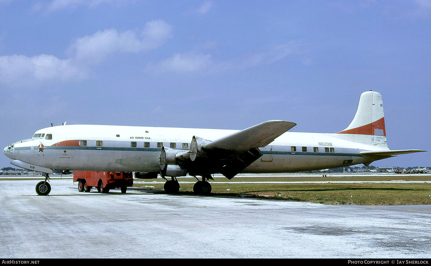
<path id="1" fill-rule="evenodd" d="M 222 149 L 235 151 L 246 151 L 252 148 L 265 147 L 295 125 L 296 123 L 294 122 L 282 120 L 266 121 L 211 141 L 204 144 L 202 147 L 205 150 Z"/>

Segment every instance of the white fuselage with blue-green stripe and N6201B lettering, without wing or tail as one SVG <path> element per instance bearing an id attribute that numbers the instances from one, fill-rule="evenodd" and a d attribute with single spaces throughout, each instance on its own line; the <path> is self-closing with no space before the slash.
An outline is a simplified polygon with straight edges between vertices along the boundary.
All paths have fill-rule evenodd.
<path id="1" fill-rule="evenodd" d="M 11 159 L 53 170 L 159 172 L 162 146 L 188 150 L 193 136 L 213 141 L 237 131 L 63 125 L 38 130 L 33 138 L 9 145 L 3 152 Z M 388 150 L 385 138 L 380 143 L 367 144 L 348 137 L 286 132 L 259 148 L 263 156 L 243 172 L 300 172 L 350 166 L 367 163 L 361 151 Z"/>

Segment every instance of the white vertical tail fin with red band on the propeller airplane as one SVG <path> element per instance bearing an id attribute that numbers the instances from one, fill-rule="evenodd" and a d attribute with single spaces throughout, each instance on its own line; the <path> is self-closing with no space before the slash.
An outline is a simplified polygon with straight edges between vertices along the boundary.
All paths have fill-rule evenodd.
<path id="1" fill-rule="evenodd" d="M 375 91 L 365 91 L 359 98 L 358 109 L 350 125 L 338 134 L 348 134 L 351 141 L 386 144 L 383 100 Z"/>

